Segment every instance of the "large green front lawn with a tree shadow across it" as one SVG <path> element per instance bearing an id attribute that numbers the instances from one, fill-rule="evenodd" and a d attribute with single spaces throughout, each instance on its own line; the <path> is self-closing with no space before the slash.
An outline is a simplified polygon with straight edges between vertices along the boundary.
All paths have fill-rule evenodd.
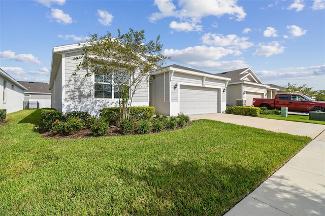
<path id="1" fill-rule="evenodd" d="M 42 138 L 40 110 L 0 127 L 0 214 L 222 215 L 309 137 L 211 120 L 148 135 Z"/>

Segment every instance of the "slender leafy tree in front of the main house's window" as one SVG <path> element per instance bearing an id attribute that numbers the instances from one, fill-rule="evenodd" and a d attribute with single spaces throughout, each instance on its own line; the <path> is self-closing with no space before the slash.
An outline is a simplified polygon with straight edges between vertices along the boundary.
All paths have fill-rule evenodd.
<path id="1" fill-rule="evenodd" d="M 111 84 L 118 88 L 119 105 L 122 117 L 129 117 L 133 96 L 141 87 L 141 83 L 149 82 L 151 71 L 165 63 L 168 58 L 161 54 L 163 45 L 160 36 L 155 41 L 147 42 L 144 30 L 135 31 L 132 28 L 125 34 L 117 30 L 114 38 L 110 32 L 106 35 L 89 34 L 85 41 L 83 53 L 75 60 L 82 59 L 75 70 L 75 75 L 81 69 L 86 69 L 86 76 L 105 75 Z"/>

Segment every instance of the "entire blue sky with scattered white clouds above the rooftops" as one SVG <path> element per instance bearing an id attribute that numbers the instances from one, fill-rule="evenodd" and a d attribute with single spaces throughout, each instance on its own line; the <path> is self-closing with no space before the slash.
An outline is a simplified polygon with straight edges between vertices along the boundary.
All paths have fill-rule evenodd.
<path id="1" fill-rule="evenodd" d="M 168 64 L 210 73 L 250 67 L 264 84 L 325 89 L 325 0 L 0 1 L 0 67 L 49 82 L 52 48 L 89 33 L 161 36 Z"/>

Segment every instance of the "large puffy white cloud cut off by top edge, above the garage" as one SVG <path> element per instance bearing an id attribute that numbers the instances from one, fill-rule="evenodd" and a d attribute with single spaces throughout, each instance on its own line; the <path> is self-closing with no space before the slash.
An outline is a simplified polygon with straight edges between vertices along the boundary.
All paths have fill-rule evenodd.
<path id="1" fill-rule="evenodd" d="M 159 12 L 152 13 L 149 21 L 156 22 L 165 17 L 178 18 L 180 22 L 173 21 L 170 24 L 170 26 L 173 26 L 178 31 L 183 29 L 184 31 L 189 31 L 189 29 L 192 29 L 191 31 L 197 31 L 202 26 L 198 27 L 194 23 L 201 23 L 201 19 L 207 16 L 220 17 L 228 14 L 236 16 L 238 21 L 243 20 L 246 16 L 244 9 L 237 5 L 236 0 L 205 1 L 204 4 L 200 1 L 180 0 L 178 3 L 179 9 L 176 8 L 172 0 L 155 0 L 154 5 L 158 7 Z M 176 24 L 178 25 L 176 26 Z M 184 27 L 184 24 L 187 27 Z"/>

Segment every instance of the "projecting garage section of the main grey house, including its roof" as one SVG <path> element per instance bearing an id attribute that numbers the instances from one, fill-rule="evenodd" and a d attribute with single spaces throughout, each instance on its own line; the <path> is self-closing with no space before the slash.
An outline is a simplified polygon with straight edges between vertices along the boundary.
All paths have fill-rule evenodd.
<path id="1" fill-rule="evenodd" d="M 152 73 L 150 105 L 168 116 L 222 113 L 231 79 L 176 64 Z"/>

